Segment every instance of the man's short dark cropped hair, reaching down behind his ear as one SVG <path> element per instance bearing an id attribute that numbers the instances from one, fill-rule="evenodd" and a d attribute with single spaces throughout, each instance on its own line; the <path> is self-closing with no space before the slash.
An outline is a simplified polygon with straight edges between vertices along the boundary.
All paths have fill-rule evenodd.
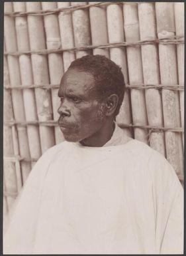
<path id="1" fill-rule="evenodd" d="M 86 55 L 73 61 L 69 68 L 77 68 L 93 74 L 95 86 L 102 96 L 117 94 L 118 105 L 115 116 L 118 114 L 125 90 L 124 76 L 120 66 L 104 55 Z"/>

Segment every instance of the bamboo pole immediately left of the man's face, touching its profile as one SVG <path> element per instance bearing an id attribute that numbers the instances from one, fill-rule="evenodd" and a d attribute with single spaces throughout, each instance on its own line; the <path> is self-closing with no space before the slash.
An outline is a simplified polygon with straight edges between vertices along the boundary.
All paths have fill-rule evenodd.
<path id="1" fill-rule="evenodd" d="M 55 2 L 42 2 L 42 9 L 56 9 Z M 60 28 L 58 24 L 57 15 L 45 15 L 44 27 L 46 33 L 46 47 L 47 49 L 59 49 L 61 47 Z M 64 64 L 62 55 L 60 53 L 50 53 L 48 55 L 48 66 L 50 73 L 51 84 L 60 84 L 62 75 L 64 74 Z M 58 120 L 58 108 L 60 106 L 60 99 L 58 98 L 58 89 L 52 89 L 52 106 L 54 120 Z M 58 126 L 55 127 L 56 144 L 64 140 L 64 136 Z"/>

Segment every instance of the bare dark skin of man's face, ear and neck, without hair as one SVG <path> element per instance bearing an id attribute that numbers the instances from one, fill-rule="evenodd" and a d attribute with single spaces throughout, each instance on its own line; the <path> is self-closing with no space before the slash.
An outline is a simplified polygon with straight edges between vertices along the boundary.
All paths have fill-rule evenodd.
<path id="1" fill-rule="evenodd" d="M 58 96 L 58 124 L 67 141 L 101 147 L 111 139 L 118 96 L 101 98 L 93 74 L 70 68 L 62 77 Z"/>

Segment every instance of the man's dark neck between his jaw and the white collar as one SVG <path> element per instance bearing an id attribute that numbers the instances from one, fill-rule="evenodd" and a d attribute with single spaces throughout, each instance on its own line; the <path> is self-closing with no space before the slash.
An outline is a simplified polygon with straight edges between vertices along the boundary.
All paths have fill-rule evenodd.
<path id="1" fill-rule="evenodd" d="M 90 136 L 89 138 L 85 138 L 81 140 L 81 144 L 83 146 L 89 147 L 102 147 L 105 145 L 111 137 L 113 136 L 113 132 L 115 130 L 115 123 L 111 121 L 105 122 L 100 130 L 98 130 L 95 134 Z"/>

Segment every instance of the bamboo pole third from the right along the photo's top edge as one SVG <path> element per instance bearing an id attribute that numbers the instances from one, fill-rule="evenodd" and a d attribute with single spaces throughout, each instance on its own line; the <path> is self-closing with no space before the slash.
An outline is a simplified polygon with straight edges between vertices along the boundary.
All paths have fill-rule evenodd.
<path id="1" fill-rule="evenodd" d="M 154 3 L 138 3 L 140 21 L 140 40 L 156 39 L 156 21 Z M 142 66 L 144 84 L 160 84 L 158 51 L 156 45 L 142 45 Z M 162 97 L 159 90 L 146 90 L 148 124 L 163 127 Z M 150 134 L 150 146 L 165 156 L 163 132 Z"/>

